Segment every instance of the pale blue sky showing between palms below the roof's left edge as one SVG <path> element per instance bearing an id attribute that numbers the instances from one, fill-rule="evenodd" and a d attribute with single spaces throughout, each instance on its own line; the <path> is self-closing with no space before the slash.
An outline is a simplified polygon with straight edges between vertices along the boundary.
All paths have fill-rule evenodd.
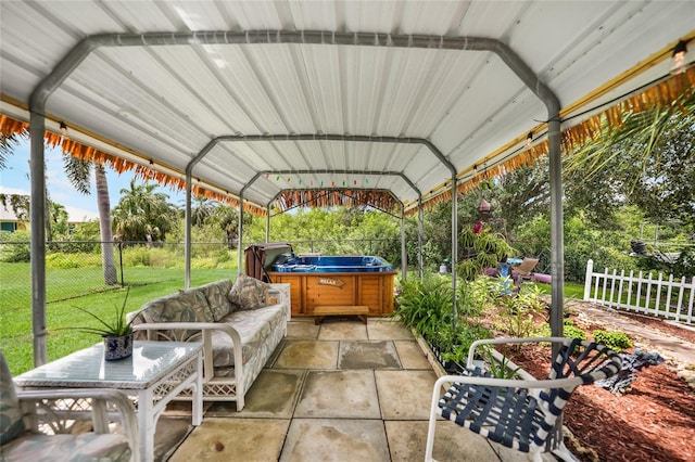
<path id="1" fill-rule="evenodd" d="M 91 194 L 80 194 L 73 188 L 63 169 L 62 152 L 59 149 L 46 149 L 47 188 L 51 201 L 65 207 L 71 221 L 83 221 L 98 218 L 97 189 L 93 177 L 91 180 Z M 21 139 L 14 154 L 8 156 L 7 168 L 0 170 L 0 193 L 30 195 L 29 183 L 29 140 Z M 109 196 L 111 208 L 114 208 L 121 198 L 122 189 L 130 189 L 130 180 L 135 172 L 125 171 L 117 174 L 106 167 L 109 181 Z M 138 184 L 142 180 L 137 180 Z M 186 194 L 169 188 L 157 188 L 155 192 L 162 192 L 169 196 L 169 202 L 175 205 L 184 205 Z"/>

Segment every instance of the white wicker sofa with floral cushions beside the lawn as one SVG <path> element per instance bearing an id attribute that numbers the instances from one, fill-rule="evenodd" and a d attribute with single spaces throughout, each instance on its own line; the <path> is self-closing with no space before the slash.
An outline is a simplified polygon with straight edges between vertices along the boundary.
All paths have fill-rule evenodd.
<path id="1" fill-rule="evenodd" d="M 236 401 L 240 411 L 287 335 L 287 285 L 240 274 L 157 298 L 130 315 L 136 338 L 203 342 L 203 399 Z"/>

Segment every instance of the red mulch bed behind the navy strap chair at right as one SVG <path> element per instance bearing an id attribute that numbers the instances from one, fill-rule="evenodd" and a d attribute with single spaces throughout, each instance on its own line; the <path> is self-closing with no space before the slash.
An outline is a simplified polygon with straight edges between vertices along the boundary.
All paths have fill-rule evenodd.
<path id="1" fill-rule="evenodd" d="M 695 344 L 695 331 L 620 316 Z M 589 325 L 586 333 L 593 329 L 602 328 Z M 547 375 L 549 347 L 529 346 L 509 356 L 532 375 Z M 641 369 L 622 396 L 596 385 L 579 387 L 565 408 L 565 425 L 574 437 L 566 434 L 567 447 L 581 461 L 695 461 L 695 390 L 677 375 L 677 365 L 665 361 Z"/>

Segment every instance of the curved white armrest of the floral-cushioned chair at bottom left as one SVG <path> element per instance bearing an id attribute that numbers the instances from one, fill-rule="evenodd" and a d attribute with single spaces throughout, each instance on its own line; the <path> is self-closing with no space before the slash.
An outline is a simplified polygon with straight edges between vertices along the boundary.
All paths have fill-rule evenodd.
<path id="1" fill-rule="evenodd" d="M 137 458 L 139 453 L 138 446 L 138 420 L 136 416 L 135 407 L 132 401 L 124 393 L 110 389 L 110 388 L 49 388 L 49 389 L 26 389 L 17 390 L 17 399 L 25 411 L 30 409 L 27 415 L 30 420 L 30 427 L 36 429 L 37 426 L 37 406 L 42 406 L 43 409 L 48 409 L 51 406 L 42 401 L 56 401 L 65 400 L 71 406 L 67 407 L 65 413 L 70 419 L 74 418 L 76 413 L 83 412 L 83 408 L 79 410 L 73 409 L 73 405 L 79 400 L 91 399 L 91 413 L 93 431 L 94 433 L 106 434 L 111 433 L 109 428 L 109 407 L 112 406 L 112 412 L 118 415 L 123 433 L 128 439 L 128 445 L 132 451 L 132 454 Z M 85 411 L 87 412 L 87 411 Z M 61 414 L 61 410 L 51 410 L 47 415 L 47 419 L 58 419 Z M 59 428 L 56 425 L 51 425 L 53 431 Z"/>

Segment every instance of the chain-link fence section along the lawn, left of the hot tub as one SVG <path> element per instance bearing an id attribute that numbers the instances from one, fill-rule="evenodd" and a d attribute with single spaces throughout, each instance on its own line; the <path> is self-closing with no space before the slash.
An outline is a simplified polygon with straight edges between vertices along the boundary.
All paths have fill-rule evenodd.
<path id="1" fill-rule="evenodd" d="M 110 270 L 102 247 L 111 248 Z M 226 244 L 195 243 L 191 247 L 191 277 L 200 283 L 237 274 L 237 251 Z M 108 292 L 129 285 L 185 279 L 181 243 L 94 241 L 49 242 L 46 246 L 47 304 Z M 2 311 L 31 305 L 29 242 L 0 243 L 0 307 Z M 114 278 L 115 277 L 115 278 Z M 199 281 L 197 281 L 199 282 Z M 7 311 L 5 311 L 7 312 Z"/>

